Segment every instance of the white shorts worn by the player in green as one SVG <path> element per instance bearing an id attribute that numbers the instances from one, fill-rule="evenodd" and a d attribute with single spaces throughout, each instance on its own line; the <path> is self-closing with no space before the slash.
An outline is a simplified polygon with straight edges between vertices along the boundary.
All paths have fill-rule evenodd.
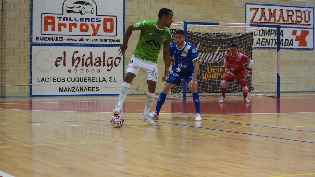
<path id="1" fill-rule="evenodd" d="M 151 80 L 157 83 L 158 79 L 157 64 L 151 61 L 136 58 L 134 55 L 132 55 L 126 73 L 131 72 L 138 76 L 141 70 L 146 76 L 147 80 Z"/>

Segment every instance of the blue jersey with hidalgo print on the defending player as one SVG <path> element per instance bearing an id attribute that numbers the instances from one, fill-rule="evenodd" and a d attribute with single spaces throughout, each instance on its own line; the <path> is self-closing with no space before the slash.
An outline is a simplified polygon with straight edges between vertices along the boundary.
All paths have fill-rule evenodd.
<path id="1" fill-rule="evenodd" d="M 192 61 L 197 60 L 197 52 L 190 43 L 184 42 L 184 47 L 178 49 L 176 43 L 169 46 L 169 57 L 175 59 L 173 71 L 180 75 L 191 74 L 194 71 L 194 64 Z"/>

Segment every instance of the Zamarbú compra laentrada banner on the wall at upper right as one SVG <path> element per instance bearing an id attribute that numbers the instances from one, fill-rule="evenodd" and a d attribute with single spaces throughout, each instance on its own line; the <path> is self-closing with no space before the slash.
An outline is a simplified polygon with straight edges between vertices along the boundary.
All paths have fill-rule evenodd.
<path id="1" fill-rule="evenodd" d="M 245 23 L 281 26 L 282 49 L 314 49 L 314 7 L 246 4 Z M 254 33 L 253 47 L 276 48 L 277 29 Z"/>

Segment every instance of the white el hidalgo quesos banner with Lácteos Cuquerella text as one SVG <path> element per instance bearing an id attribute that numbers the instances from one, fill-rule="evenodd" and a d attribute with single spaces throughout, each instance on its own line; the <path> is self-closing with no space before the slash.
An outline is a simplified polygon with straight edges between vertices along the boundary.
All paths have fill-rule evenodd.
<path id="1" fill-rule="evenodd" d="M 123 60 L 116 49 L 33 46 L 32 95 L 119 94 Z"/>

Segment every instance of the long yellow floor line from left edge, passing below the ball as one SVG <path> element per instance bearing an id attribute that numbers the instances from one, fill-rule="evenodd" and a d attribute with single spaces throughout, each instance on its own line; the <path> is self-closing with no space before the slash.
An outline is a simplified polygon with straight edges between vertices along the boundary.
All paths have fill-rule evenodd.
<path id="1" fill-rule="evenodd" d="M 68 144 L 88 144 L 88 143 L 104 143 L 104 142 L 124 142 L 124 141 L 155 141 L 155 140 L 175 140 L 175 139 L 192 139 L 192 138 L 211 138 L 212 136 L 199 137 L 182 137 L 182 138 L 153 138 L 153 139 L 136 139 L 136 140 L 107 140 L 107 141 L 87 141 L 87 142 L 73 142 L 73 143 L 50 143 L 50 144 L 36 144 L 36 145 L 14 145 L 14 146 L 0 146 L 0 148 L 9 147 L 24 147 L 24 146 L 48 146 L 48 145 L 68 145 Z"/>

